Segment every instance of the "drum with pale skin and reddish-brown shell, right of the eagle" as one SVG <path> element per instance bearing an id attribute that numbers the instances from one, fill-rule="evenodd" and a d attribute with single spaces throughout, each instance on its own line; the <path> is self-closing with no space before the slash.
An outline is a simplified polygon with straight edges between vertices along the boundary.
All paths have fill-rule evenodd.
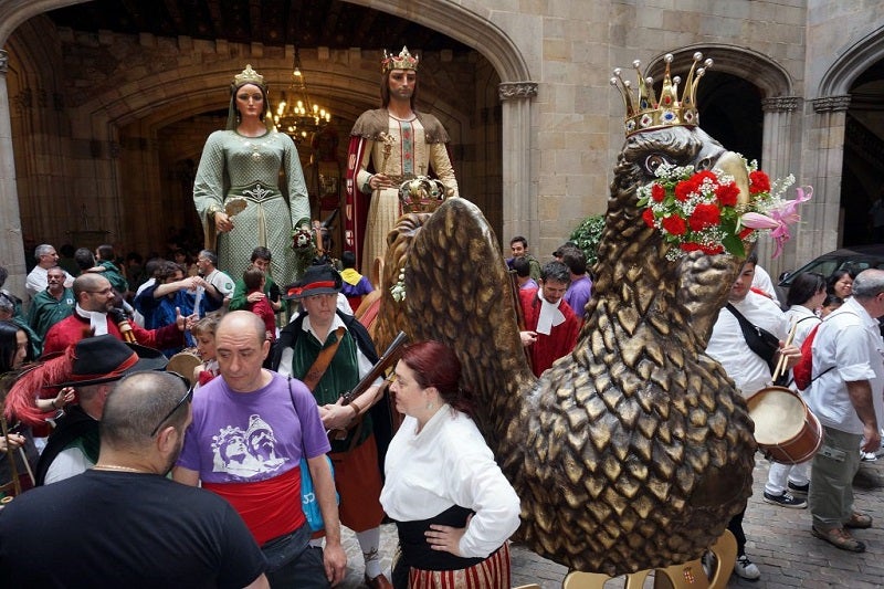
<path id="1" fill-rule="evenodd" d="M 786 387 L 766 387 L 746 400 L 755 441 L 768 460 L 807 462 L 822 444 L 822 427 L 803 399 Z"/>

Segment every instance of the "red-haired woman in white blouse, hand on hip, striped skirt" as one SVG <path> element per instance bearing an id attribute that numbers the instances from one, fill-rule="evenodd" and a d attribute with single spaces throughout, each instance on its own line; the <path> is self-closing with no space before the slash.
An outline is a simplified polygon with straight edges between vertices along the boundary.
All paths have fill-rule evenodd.
<path id="1" fill-rule="evenodd" d="M 507 538 L 519 501 L 471 419 L 461 364 L 446 346 L 406 348 L 390 387 L 406 414 L 380 495 L 399 532 L 393 586 L 508 589 Z"/>

